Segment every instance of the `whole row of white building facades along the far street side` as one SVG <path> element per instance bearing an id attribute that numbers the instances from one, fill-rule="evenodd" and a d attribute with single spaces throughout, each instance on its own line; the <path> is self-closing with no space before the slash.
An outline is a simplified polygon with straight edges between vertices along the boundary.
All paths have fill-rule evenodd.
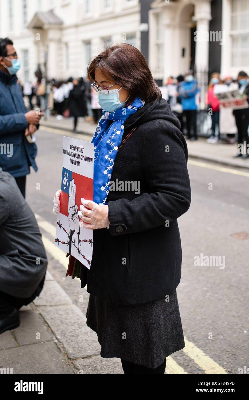
<path id="1" fill-rule="evenodd" d="M 148 24 L 140 24 L 145 3 Z M 148 61 L 157 80 L 190 67 L 200 82 L 214 71 L 233 78 L 239 70 L 249 73 L 249 0 L 0 0 L 0 36 L 14 41 L 21 82 L 34 78 L 38 64 L 48 78 L 85 77 L 105 43 L 140 49 L 142 25 L 148 25 Z"/>

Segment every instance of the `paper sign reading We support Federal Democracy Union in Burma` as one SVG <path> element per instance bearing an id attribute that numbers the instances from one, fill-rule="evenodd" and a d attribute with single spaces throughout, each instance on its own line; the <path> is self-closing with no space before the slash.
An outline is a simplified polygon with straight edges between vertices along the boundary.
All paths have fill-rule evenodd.
<path id="1" fill-rule="evenodd" d="M 81 142 L 81 146 L 73 146 L 72 143 L 75 142 Z M 87 146 L 82 146 L 82 143 L 90 145 L 88 142 L 63 137 L 60 212 L 57 217 L 55 244 L 90 268 L 93 231 L 79 226 L 77 212 L 82 204 L 81 198 L 93 200 L 93 168 L 89 166 L 89 163 L 93 163 L 93 157 L 84 155 L 87 150 L 91 154 L 93 148 L 85 148 Z M 67 148 L 77 148 L 77 152 L 64 151 Z M 73 156 L 81 161 L 74 164 Z"/>

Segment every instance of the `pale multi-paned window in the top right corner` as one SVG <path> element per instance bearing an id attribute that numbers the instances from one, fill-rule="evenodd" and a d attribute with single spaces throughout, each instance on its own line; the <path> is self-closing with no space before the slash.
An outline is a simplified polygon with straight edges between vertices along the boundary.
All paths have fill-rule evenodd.
<path id="1" fill-rule="evenodd" d="M 232 66 L 249 65 L 249 0 L 231 2 Z"/>

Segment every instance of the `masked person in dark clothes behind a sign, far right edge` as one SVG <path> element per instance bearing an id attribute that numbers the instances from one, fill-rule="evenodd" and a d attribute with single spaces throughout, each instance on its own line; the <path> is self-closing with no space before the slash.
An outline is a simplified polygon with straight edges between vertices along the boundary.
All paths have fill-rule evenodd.
<path id="1" fill-rule="evenodd" d="M 239 92 L 247 97 L 247 102 L 249 103 L 249 78 L 244 71 L 240 71 L 238 74 L 239 82 Z M 238 110 L 233 110 L 233 115 L 235 116 L 235 122 L 238 130 L 238 144 L 246 144 L 246 148 L 249 145 L 248 137 L 248 126 L 249 126 L 249 108 L 241 108 Z M 234 157 L 242 157 L 242 159 L 249 158 L 247 150 L 245 154 L 242 155 L 238 152 Z"/>

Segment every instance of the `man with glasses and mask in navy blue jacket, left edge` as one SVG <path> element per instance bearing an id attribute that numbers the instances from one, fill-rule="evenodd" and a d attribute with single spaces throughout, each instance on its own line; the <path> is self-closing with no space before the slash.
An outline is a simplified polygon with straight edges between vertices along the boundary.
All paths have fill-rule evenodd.
<path id="1" fill-rule="evenodd" d="M 20 59 L 9 38 L 0 38 L 0 167 L 9 172 L 25 198 L 26 175 L 30 166 L 38 170 L 37 147 L 28 141 L 39 126 L 43 112 L 28 111 L 24 105 L 16 72 Z"/>

